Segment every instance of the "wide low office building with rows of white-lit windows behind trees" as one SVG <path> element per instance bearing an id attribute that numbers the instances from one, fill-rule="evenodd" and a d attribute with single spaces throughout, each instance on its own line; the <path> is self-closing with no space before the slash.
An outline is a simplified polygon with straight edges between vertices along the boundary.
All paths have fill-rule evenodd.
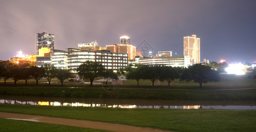
<path id="1" fill-rule="evenodd" d="M 99 62 L 105 69 L 117 72 L 119 68 L 128 66 L 128 54 L 113 53 L 108 50 L 83 51 L 75 48 L 68 48 L 68 51 L 51 51 L 51 65 L 71 70 L 72 73 L 76 73 L 78 66 L 86 61 Z"/>

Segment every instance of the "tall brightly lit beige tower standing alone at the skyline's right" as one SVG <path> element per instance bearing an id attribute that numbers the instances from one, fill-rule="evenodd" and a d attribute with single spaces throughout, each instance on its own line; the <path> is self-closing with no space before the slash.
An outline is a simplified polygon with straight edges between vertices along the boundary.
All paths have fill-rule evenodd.
<path id="1" fill-rule="evenodd" d="M 196 35 L 184 37 L 184 55 L 188 55 L 196 63 L 200 63 L 200 38 Z"/>

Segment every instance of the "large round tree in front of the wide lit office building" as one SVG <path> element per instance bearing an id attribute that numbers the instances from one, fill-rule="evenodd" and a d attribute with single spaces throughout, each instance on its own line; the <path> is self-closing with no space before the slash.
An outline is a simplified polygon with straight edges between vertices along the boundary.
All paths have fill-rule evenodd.
<path id="1" fill-rule="evenodd" d="M 95 77 L 103 76 L 104 70 L 105 68 L 102 66 L 102 64 L 93 61 L 86 61 L 78 66 L 76 71 L 84 80 L 89 79 L 90 85 L 92 85 Z"/>

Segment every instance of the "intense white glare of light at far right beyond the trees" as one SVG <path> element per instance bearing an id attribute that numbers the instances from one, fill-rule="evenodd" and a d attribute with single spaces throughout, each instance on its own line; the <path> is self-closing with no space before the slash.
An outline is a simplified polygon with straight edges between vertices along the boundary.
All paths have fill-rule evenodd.
<path id="1" fill-rule="evenodd" d="M 242 63 L 230 64 L 226 69 L 228 74 L 243 75 L 245 74 L 245 65 Z"/>

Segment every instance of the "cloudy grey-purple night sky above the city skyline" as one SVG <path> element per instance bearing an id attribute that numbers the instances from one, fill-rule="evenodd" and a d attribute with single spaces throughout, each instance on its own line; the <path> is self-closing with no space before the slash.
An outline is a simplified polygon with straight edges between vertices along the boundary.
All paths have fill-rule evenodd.
<path id="1" fill-rule="evenodd" d="M 130 37 L 139 47 L 183 55 L 183 37 L 200 38 L 201 61 L 256 63 L 256 0 L 0 0 L 0 60 L 35 54 L 36 33 L 55 49 Z"/>

